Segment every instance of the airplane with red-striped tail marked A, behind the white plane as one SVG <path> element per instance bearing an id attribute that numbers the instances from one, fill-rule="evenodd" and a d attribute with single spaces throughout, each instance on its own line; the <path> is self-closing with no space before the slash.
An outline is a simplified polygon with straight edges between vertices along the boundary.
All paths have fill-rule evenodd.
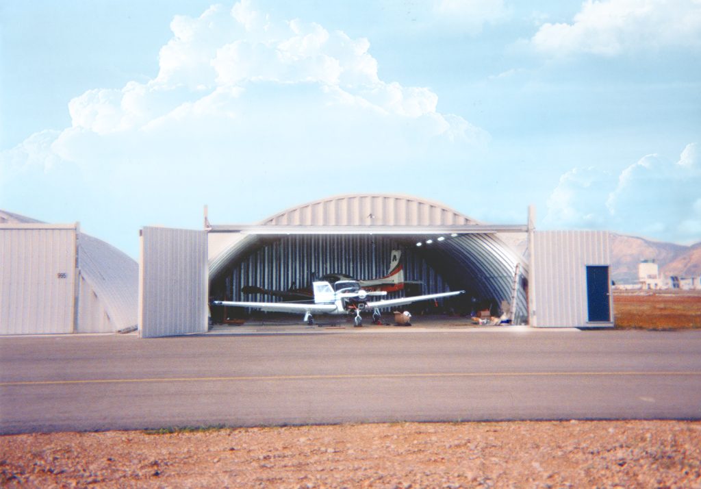
<path id="1" fill-rule="evenodd" d="M 404 280 L 404 265 L 401 261 L 402 251 L 392 250 L 392 260 L 390 262 L 390 271 L 385 276 L 377 279 L 355 279 L 348 274 L 325 274 L 320 281 L 334 284 L 338 281 L 358 281 L 360 287 L 368 292 L 396 292 L 403 290 L 404 285 L 408 283 L 421 283 L 421 281 Z M 283 300 L 311 300 L 314 298 L 312 288 L 290 288 L 288 290 L 271 290 L 257 286 L 243 286 L 241 292 L 245 294 L 264 294 L 271 297 L 280 297 Z"/>

